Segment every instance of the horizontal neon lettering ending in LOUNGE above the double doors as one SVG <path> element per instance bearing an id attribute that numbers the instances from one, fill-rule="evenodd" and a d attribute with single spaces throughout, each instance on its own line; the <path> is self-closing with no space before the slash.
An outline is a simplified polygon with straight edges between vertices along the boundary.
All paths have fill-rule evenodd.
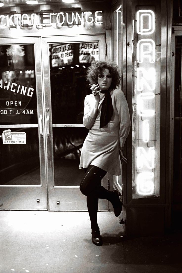
<path id="1" fill-rule="evenodd" d="M 94 14 L 91 11 L 85 12 L 59 12 L 59 13 L 32 13 L 32 14 L 12 14 L 12 15 L 0 15 L 0 28 L 5 27 L 31 27 L 38 26 L 62 26 L 64 23 L 68 25 L 83 25 L 87 24 L 102 24 L 102 11 L 95 11 Z M 46 22 L 45 22 L 46 21 Z"/>

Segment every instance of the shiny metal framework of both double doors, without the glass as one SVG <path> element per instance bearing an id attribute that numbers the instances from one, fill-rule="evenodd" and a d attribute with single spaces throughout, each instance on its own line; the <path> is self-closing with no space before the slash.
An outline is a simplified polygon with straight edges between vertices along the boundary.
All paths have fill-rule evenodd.
<path id="1" fill-rule="evenodd" d="M 49 74 L 49 43 L 69 43 L 73 42 L 92 42 L 99 41 L 100 60 L 105 60 L 105 34 L 96 35 L 66 35 L 55 37 L 21 37 L 21 38 L 1 38 L 1 44 L 34 44 L 35 53 L 35 72 L 36 72 L 36 90 L 37 90 L 37 124 L 12 124 L 1 125 L 1 128 L 25 128 L 25 127 L 38 127 L 39 135 L 39 155 L 40 155 L 40 185 L 0 185 L 1 188 L 1 203 L 4 205 L 1 210 L 49 210 L 58 211 L 52 198 L 56 196 L 56 200 L 61 198 L 60 188 L 67 191 L 67 195 L 70 194 L 70 188 L 77 191 L 79 186 L 55 186 L 53 187 L 53 141 L 51 138 L 47 138 L 46 133 L 48 128 L 46 126 L 47 115 L 50 116 L 49 126 L 50 134 L 52 135 L 52 127 L 64 127 L 63 124 L 52 124 L 51 103 L 48 103 L 47 98 L 50 101 L 50 74 Z M 47 49 L 47 51 L 45 50 Z M 41 52 L 41 54 L 40 54 Z M 42 58 L 42 60 L 41 60 Z M 44 70 L 42 69 L 44 67 Z M 48 81 L 48 84 L 47 84 Z M 46 108 L 50 111 L 46 112 Z M 39 118 L 42 115 L 41 119 Z M 53 126 L 52 126 L 53 125 Z M 42 126 L 42 135 L 40 132 L 40 126 Z M 71 127 L 83 127 L 83 124 L 73 124 Z M 51 144 L 51 145 L 50 145 Z M 50 149 L 48 149 L 50 147 Z M 106 175 L 107 176 L 107 175 Z M 104 183 L 107 183 L 107 177 L 104 179 Z M 34 189 L 35 188 L 35 189 Z M 7 190 L 8 189 L 8 190 Z M 12 196 L 16 196 L 12 198 Z M 74 196 L 79 200 L 83 198 L 80 191 L 77 191 Z M 37 199 L 40 201 L 37 202 Z M 54 204 L 53 204 L 54 203 Z M 100 208 L 100 210 L 103 210 Z M 63 209 L 61 211 L 68 211 Z M 78 211 L 78 210 L 76 210 Z M 80 211 L 80 210 L 79 210 Z M 85 209 L 83 210 L 85 211 Z"/>

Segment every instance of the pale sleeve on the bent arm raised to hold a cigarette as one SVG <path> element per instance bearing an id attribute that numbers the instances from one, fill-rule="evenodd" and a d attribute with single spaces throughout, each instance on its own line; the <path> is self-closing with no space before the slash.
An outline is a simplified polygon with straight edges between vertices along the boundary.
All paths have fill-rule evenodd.
<path id="1" fill-rule="evenodd" d="M 90 129 L 96 119 L 98 109 L 95 108 L 94 106 L 91 106 L 89 103 L 89 95 L 85 97 L 85 102 L 84 102 L 84 113 L 83 113 L 83 125 L 87 128 Z"/>

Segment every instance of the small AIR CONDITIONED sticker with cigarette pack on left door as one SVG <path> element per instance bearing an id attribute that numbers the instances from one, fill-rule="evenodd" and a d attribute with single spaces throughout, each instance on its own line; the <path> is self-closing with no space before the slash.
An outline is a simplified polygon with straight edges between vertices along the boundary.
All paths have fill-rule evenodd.
<path id="1" fill-rule="evenodd" d="M 10 129 L 2 133 L 3 144 L 26 144 L 25 132 L 11 132 Z"/>

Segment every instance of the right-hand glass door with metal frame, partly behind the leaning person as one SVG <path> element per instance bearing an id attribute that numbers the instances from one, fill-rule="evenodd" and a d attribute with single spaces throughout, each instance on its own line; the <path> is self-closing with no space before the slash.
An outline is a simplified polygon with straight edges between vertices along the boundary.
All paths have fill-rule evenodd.
<path id="1" fill-rule="evenodd" d="M 79 159 L 88 134 L 84 98 L 91 93 L 85 76 L 91 61 L 105 60 L 105 36 L 45 37 L 42 49 L 49 210 L 84 211 Z M 102 183 L 107 187 L 107 179 Z M 99 210 L 108 210 L 106 200 Z"/>

